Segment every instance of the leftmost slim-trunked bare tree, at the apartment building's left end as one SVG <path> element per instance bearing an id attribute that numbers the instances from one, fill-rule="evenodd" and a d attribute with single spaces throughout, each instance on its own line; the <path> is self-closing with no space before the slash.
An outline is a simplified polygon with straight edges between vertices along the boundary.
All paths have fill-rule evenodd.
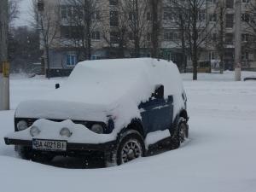
<path id="1" fill-rule="evenodd" d="M 55 43 L 56 33 L 60 26 L 60 2 L 43 4 L 42 10 L 38 10 L 38 0 L 32 1 L 33 23 L 35 30 L 39 31 L 40 42 L 44 48 L 45 62 L 47 66 L 46 77 L 49 78 L 49 49 Z M 57 14 L 56 14 L 57 13 Z"/>

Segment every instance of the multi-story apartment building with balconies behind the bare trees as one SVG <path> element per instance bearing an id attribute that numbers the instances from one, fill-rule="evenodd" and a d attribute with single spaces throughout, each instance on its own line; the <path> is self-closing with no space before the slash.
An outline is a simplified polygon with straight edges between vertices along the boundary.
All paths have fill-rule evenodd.
<path id="1" fill-rule="evenodd" d="M 121 34 L 119 32 L 120 26 L 125 23 L 125 20 L 121 20 L 121 9 L 118 8 L 120 0 L 101 0 L 96 1 L 96 11 L 92 16 L 91 25 L 91 53 L 90 59 L 105 59 L 119 57 L 119 41 Z M 71 22 L 70 17 L 75 13 L 75 0 L 44 0 L 45 9 L 52 9 L 51 15 L 55 15 L 55 32 L 54 40 L 50 44 L 49 62 L 50 68 L 55 70 L 71 70 L 80 60 L 84 60 L 84 55 L 81 48 L 83 44 L 86 47 L 86 41 L 78 39 L 78 28 L 83 25 L 81 23 Z M 179 40 L 180 32 L 179 27 L 175 22 L 176 15 L 173 15 L 172 9 L 166 5 L 168 1 L 161 1 L 160 6 L 160 55 L 165 59 L 170 59 L 180 64 L 182 60 L 181 44 Z M 241 13 L 243 17 L 246 17 L 247 4 L 249 0 L 241 0 Z M 225 68 L 232 68 L 234 66 L 235 58 L 235 0 L 224 0 L 225 12 L 224 12 L 224 65 Z M 199 11 L 199 20 L 202 21 L 202 27 L 208 27 L 208 38 L 203 44 L 201 44 L 201 56 L 199 62 L 212 63 L 213 67 L 218 67 L 218 50 L 214 45 L 216 37 L 218 36 L 218 14 L 216 12 L 218 6 L 218 0 L 206 0 L 204 6 Z M 147 21 L 146 26 L 143 26 L 146 30 L 143 34 L 143 38 L 140 38 L 141 55 L 150 56 L 150 10 L 145 11 L 146 14 L 143 20 Z M 133 20 L 134 15 L 128 13 L 128 19 Z M 128 21 L 129 21 L 128 20 Z M 128 22 L 126 20 L 126 22 Z M 243 31 L 245 26 L 241 26 L 242 31 L 242 53 L 241 64 L 242 67 L 256 67 L 256 54 L 253 51 L 246 49 L 248 42 L 248 34 Z M 128 29 L 123 29 L 128 30 Z M 127 43 L 123 46 L 123 56 L 131 57 L 131 51 L 135 39 L 132 36 L 132 32 L 128 30 Z M 124 42 L 122 42 L 124 43 Z M 187 56 L 188 63 L 191 66 L 191 60 Z"/>

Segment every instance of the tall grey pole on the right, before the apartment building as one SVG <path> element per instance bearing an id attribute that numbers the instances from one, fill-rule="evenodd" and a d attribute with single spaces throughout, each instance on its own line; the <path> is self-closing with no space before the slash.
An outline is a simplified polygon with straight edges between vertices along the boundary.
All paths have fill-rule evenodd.
<path id="1" fill-rule="evenodd" d="M 241 81 L 241 0 L 236 0 L 235 81 Z"/>

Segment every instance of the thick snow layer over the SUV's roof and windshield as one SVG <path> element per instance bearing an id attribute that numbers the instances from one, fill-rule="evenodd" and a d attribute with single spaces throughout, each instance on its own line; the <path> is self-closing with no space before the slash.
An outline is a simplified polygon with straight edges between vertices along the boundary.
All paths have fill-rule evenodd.
<path id="1" fill-rule="evenodd" d="M 178 75 L 171 61 L 150 58 L 83 61 L 75 67 L 62 90 L 73 90 L 77 101 L 90 104 L 113 103 L 132 90 L 143 97 L 147 94 L 148 99 L 156 84 L 166 85 L 166 96 L 180 90 Z"/>

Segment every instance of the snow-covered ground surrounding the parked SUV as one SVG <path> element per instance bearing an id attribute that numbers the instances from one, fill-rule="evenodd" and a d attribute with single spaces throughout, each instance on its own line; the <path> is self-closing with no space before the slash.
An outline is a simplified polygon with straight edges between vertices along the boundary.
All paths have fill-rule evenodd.
<path id="1" fill-rule="evenodd" d="M 189 142 L 124 166 L 67 169 L 20 160 L 3 142 L 14 130 L 15 111 L 0 112 L 0 191 L 256 191 L 256 81 L 234 82 L 231 72 L 191 77 L 183 74 Z M 12 77 L 11 108 L 65 80 Z"/>

